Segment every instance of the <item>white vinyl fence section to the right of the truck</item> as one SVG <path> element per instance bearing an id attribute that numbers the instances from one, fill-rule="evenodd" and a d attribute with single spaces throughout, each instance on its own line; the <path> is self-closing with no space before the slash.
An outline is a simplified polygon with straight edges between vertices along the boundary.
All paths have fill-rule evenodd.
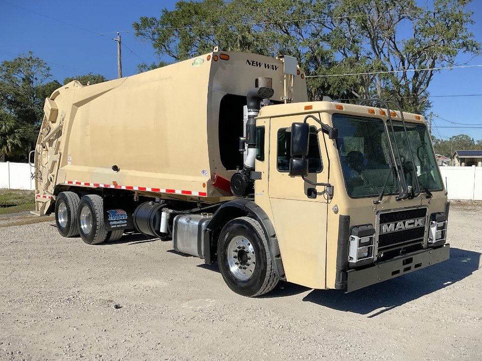
<path id="1" fill-rule="evenodd" d="M 482 167 L 441 166 L 449 199 L 482 200 Z"/>

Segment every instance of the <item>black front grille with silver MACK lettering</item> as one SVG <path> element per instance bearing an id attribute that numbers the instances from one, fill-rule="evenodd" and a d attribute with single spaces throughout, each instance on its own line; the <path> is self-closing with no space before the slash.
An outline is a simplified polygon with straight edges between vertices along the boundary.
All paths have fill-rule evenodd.
<path id="1" fill-rule="evenodd" d="M 424 218 L 422 226 L 382 233 L 383 225 L 398 224 L 407 220 Z M 423 249 L 427 229 L 427 209 L 404 209 L 397 212 L 380 212 L 377 215 L 377 260 L 386 261 L 397 256 Z"/>

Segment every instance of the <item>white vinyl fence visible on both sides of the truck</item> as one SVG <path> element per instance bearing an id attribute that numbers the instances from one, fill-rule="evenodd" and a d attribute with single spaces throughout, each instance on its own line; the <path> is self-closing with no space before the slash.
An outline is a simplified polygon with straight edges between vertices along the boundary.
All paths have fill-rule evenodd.
<path id="1" fill-rule="evenodd" d="M 0 163 L 0 188 L 34 190 L 28 163 Z M 482 167 L 441 166 L 449 199 L 482 200 Z"/>

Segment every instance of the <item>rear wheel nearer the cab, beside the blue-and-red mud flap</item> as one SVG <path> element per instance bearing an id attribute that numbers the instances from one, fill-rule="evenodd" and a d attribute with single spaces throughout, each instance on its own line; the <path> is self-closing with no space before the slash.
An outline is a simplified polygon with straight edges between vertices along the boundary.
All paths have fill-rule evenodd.
<path id="1" fill-rule="evenodd" d="M 77 217 L 80 238 L 87 244 L 99 244 L 107 239 L 104 225 L 104 205 L 102 197 L 83 196 Z"/>

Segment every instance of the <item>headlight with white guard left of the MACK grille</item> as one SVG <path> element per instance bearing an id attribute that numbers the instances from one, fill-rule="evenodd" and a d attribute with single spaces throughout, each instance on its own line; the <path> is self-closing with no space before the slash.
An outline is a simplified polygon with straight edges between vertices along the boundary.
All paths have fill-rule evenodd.
<path id="1" fill-rule="evenodd" d="M 358 266 L 373 262 L 374 249 L 375 229 L 371 225 L 351 229 L 348 253 L 348 261 L 351 265 Z M 358 262 L 360 263 L 355 265 Z"/>

